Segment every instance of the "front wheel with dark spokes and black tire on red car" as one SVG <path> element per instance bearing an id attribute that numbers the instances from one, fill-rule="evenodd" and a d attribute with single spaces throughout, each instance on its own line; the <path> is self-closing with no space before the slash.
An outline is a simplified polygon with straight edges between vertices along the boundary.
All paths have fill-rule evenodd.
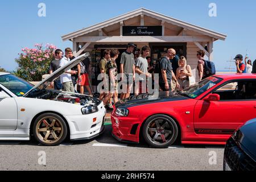
<path id="1" fill-rule="evenodd" d="M 176 122 L 167 115 L 158 114 L 148 118 L 142 129 L 143 138 L 154 148 L 167 148 L 177 139 Z"/>

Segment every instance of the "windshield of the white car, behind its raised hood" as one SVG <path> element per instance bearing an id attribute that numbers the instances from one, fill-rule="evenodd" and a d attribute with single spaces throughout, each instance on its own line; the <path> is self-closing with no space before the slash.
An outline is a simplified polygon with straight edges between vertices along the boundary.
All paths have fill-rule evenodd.
<path id="1" fill-rule="evenodd" d="M 5 88 L 9 89 L 18 97 L 22 97 L 25 93 L 34 87 L 34 85 L 14 75 L 0 76 L 0 84 L 5 86 Z"/>

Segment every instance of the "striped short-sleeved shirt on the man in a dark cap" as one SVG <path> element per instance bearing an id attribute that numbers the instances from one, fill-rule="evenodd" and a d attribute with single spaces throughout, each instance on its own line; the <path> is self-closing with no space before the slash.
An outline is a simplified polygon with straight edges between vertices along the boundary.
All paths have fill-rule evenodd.
<path id="1" fill-rule="evenodd" d="M 123 73 L 125 75 L 133 74 L 133 66 L 135 65 L 133 53 L 123 52 L 120 64 L 123 64 Z"/>

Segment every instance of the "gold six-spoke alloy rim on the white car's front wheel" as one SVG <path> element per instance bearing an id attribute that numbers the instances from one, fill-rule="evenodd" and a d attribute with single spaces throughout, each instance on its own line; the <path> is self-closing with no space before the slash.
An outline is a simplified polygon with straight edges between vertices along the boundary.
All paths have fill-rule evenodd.
<path id="1" fill-rule="evenodd" d="M 57 143 L 63 136 L 63 133 L 63 125 L 55 117 L 44 117 L 36 124 L 36 136 L 43 143 Z"/>

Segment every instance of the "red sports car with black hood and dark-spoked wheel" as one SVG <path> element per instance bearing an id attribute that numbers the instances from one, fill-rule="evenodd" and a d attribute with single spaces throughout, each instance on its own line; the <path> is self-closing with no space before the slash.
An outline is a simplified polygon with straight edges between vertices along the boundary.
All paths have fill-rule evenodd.
<path id="1" fill-rule="evenodd" d="M 256 118 L 256 75 L 214 75 L 179 92 L 132 96 L 112 113 L 113 137 L 152 147 L 225 144 L 246 121 Z"/>

